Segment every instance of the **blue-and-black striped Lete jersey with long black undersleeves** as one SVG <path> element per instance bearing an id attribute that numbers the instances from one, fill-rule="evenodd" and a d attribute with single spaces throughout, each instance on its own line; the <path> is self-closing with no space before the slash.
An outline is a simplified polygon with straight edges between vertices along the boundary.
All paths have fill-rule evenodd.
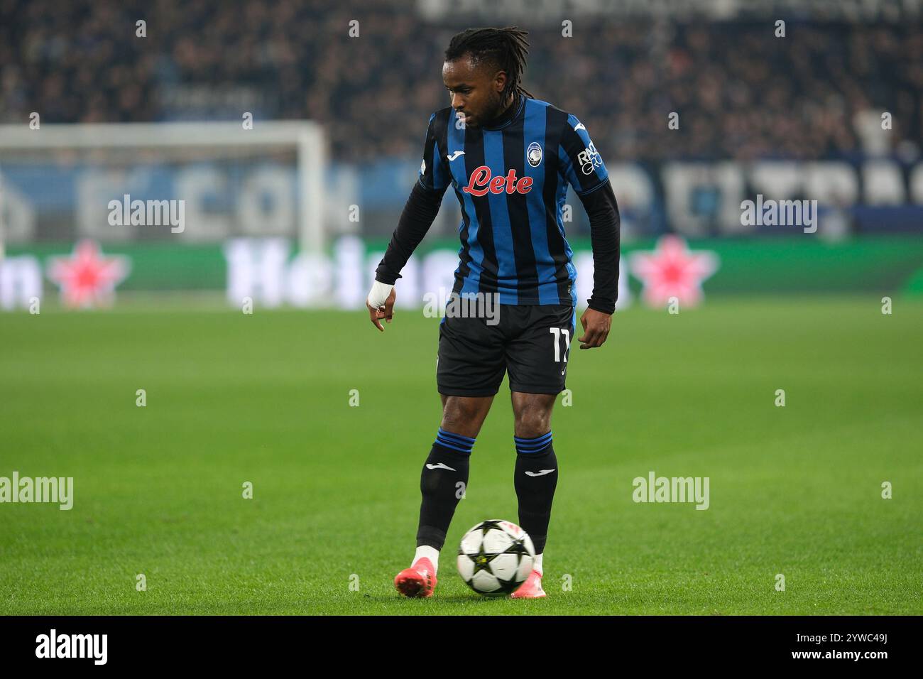
<path id="1" fill-rule="evenodd" d="M 524 95 L 509 111 L 484 127 L 464 126 L 451 107 L 430 115 L 414 192 L 423 188 L 427 200 L 436 197 L 436 209 L 431 203 L 426 210 L 419 208 L 422 201 L 417 201 L 411 216 L 431 223 L 445 190 L 454 189 L 462 208 L 462 247 L 453 293 L 498 293 L 500 304 L 576 306 L 577 271 L 562 209 L 568 184 L 584 205 L 600 188 L 607 187 L 611 196 L 605 164 L 576 116 Z M 610 214 L 615 212 L 610 240 L 616 264 L 614 277 L 605 275 L 600 306 L 611 313 L 617 283 L 617 206 L 614 197 L 605 204 L 612 206 Z M 611 227 L 612 221 L 606 225 Z M 394 269 L 409 257 L 414 239 L 422 238 L 417 234 L 400 242 L 398 235 L 396 231 L 389 255 L 378 267 L 378 280 L 386 283 L 400 277 Z M 594 244 L 594 257 L 595 249 Z M 612 248 L 607 243 L 603 249 Z"/>

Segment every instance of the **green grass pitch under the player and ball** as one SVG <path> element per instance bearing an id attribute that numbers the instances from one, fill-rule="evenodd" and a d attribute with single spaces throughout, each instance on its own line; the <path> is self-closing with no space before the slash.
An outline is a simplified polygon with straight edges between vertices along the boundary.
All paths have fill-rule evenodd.
<path id="1" fill-rule="evenodd" d="M 361 311 L 3 315 L 0 476 L 74 477 L 75 500 L 0 504 L 0 613 L 923 612 L 920 302 L 636 307 L 574 346 L 545 600 L 481 598 L 454 563 L 467 528 L 518 520 L 506 381 L 436 596 L 392 586 L 439 424 L 437 339 L 401 310 L 385 333 Z M 634 503 L 651 470 L 709 477 L 710 507 Z"/>

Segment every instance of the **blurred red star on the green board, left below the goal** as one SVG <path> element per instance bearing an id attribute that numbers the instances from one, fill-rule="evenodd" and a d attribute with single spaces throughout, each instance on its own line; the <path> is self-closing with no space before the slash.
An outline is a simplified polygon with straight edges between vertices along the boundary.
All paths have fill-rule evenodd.
<path id="1" fill-rule="evenodd" d="M 89 308 L 112 303 L 115 285 L 125 280 L 127 257 L 102 257 L 92 240 L 81 240 L 70 257 L 54 257 L 48 264 L 48 277 L 61 289 L 67 307 Z"/>

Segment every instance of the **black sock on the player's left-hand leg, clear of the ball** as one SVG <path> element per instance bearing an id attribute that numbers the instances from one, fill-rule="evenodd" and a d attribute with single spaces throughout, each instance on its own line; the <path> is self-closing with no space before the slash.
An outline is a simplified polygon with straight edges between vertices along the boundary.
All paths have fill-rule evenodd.
<path id="1" fill-rule="evenodd" d="M 474 439 L 439 428 L 420 475 L 420 523 L 416 546 L 442 549 L 455 507 L 468 486 L 468 458 Z"/>

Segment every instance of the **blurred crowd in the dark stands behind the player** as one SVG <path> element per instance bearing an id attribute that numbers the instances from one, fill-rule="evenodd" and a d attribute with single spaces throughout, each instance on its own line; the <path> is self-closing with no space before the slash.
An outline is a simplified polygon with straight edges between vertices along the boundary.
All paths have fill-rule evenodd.
<path id="1" fill-rule="evenodd" d="M 450 37 L 484 22 L 433 23 L 414 7 L 0 0 L 0 122 L 26 123 L 33 111 L 42 123 L 249 111 L 256 124 L 318 120 L 335 160 L 416 156 L 429 114 L 449 105 Z M 915 22 L 792 18 L 785 37 L 771 20 L 576 18 L 572 37 L 516 23 L 530 30 L 524 87 L 577 115 L 607 158 L 843 157 L 859 148 L 862 110 L 891 113 L 895 147 L 923 139 Z M 678 130 L 667 127 L 672 112 Z"/>

